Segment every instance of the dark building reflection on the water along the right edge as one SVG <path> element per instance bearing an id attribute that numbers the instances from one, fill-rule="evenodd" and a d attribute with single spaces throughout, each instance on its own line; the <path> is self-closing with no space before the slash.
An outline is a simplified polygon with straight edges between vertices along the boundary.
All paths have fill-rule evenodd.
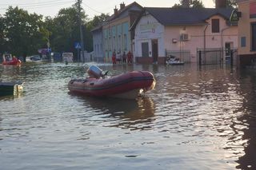
<path id="1" fill-rule="evenodd" d="M 236 168 L 256 169 L 256 73 L 253 70 L 241 74 L 241 89 L 246 100 L 243 103 L 245 113 L 242 117 L 238 117 L 238 125 L 244 125 L 246 128 L 234 128 L 234 130 L 243 132 L 242 140 L 246 143 L 243 145 L 244 155 L 238 158 L 239 165 Z"/>

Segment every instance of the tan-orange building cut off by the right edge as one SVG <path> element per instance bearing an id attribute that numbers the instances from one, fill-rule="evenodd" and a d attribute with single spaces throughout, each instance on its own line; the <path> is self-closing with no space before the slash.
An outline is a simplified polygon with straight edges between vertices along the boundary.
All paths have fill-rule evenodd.
<path id="1" fill-rule="evenodd" d="M 256 65 L 256 0 L 237 0 L 241 16 L 238 21 L 238 64 Z"/>

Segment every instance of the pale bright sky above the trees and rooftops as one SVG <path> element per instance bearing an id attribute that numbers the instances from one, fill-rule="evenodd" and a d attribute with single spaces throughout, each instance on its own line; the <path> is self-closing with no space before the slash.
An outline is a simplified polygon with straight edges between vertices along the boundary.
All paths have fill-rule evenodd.
<path id="1" fill-rule="evenodd" d="M 86 11 L 89 18 L 94 15 L 113 14 L 114 7 L 119 8 L 119 4 L 124 2 L 126 5 L 135 0 L 82 0 L 82 8 Z M 0 14 L 4 15 L 8 6 L 18 6 L 29 13 L 42 14 L 43 16 L 55 17 L 62 8 L 70 7 L 77 0 L 0 0 Z M 179 0 L 136 0 L 143 7 L 171 7 Z M 214 0 L 202 0 L 207 8 L 214 7 Z"/>

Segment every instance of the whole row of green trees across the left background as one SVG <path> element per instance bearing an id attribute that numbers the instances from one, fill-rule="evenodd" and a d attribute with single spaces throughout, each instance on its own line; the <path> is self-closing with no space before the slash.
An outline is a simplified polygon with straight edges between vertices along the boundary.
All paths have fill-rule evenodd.
<path id="1" fill-rule="evenodd" d="M 26 10 L 10 6 L 5 17 L 0 15 L 0 53 L 9 52 L 17 56 L 38 53 L 38 49 L 50 48 L 53 52 L 73 52 L 75 42 L 80 42 L 78 3 L 58 11 L 54 18 L 29 14 Z M 81 21 L 85 50 L 93 50 L 93 38 L 90 30 L 106 21 L 108 14 L 94 16 L 89 21 L 81 9 Z"/>

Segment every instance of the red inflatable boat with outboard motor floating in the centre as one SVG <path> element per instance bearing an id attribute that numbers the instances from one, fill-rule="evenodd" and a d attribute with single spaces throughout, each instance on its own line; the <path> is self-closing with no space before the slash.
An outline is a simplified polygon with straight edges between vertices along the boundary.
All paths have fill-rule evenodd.
<path id="1" fill-rule="evenodd" d="M 118 76 L 104 78 L 101 69 L 99 70 L 98 73 L 95 73 L 90 68 L 88 69 L 90 77 L 71 80 L 68 84 L 70 93 L 92 97 L 134 99 L 140 93 L 154 89 L 154 75 L 148 71 L 132 71 L 122 73 Z"/>

